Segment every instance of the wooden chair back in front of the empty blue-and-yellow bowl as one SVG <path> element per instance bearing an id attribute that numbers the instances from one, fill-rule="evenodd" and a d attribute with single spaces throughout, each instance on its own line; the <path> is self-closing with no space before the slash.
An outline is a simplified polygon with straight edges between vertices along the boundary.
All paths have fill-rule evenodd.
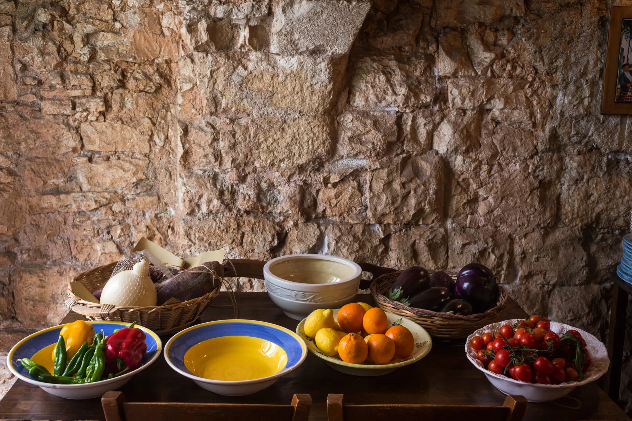
<path id="1" fill-rule="evenodd" d="M 312 407 L 309 394 L 295 394 L 291 405 L 240 403 L 126 402 L 123 392 L 101 398 L 106 421 L 307 421 Z"/>

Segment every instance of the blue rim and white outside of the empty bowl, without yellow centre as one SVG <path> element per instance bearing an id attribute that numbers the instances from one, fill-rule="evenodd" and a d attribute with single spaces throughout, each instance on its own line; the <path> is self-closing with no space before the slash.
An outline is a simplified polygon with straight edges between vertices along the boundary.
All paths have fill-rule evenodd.
<path id="1" fill-rule="evenodd" d="M 288 355 L 288 363 L 283 370 L 272 376 L 243 381 L 205 379 L 196 376 L 186 368 L 185 353 L 193 345 L 222 336 L 252 336 L 275 343 Z M 233 319 L 196 324 L 176 333 L 164 347 L 164 359 L 172 369 L 192 379 L 198 386 L 225 396 L 243 396 L 272 386 L 279 377 L 285 376 L 303 364 L 305 357 L 307 357 L 307 346 L 300 336 L 276 324 L 257 320 Z"/>

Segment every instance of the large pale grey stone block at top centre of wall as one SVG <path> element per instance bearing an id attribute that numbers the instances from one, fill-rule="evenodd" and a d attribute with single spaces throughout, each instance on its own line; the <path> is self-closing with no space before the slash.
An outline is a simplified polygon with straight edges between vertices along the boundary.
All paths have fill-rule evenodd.
<path id="1" fill-rule="evenodd" d="M 276 0 L 270 51 L 346 54 L 370 7 L 358 0 Z"/>

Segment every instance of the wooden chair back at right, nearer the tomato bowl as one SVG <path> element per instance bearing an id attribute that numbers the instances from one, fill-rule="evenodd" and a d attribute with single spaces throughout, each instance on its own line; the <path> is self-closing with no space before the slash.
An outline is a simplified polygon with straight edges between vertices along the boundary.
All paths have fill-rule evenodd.
<path id="1" fill-rule="evenodd" d="M 507 396 L 502 406 L 476 405 L 344 405 L 342 394 L 327 396 L 329 421 L 521 421 L 526 399 Z"/>

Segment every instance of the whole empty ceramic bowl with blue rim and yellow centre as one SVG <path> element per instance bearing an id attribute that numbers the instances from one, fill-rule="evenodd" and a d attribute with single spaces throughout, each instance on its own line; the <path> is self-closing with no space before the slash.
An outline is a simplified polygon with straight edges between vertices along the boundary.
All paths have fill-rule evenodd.
<path id="1" fill-rule="evenodd" d="M 296 333 L 256 320 L 197 324 L 176 333 L 164 347 L 171 368 L 226 396 L 265 389 L 306 356 L 307 347 Z"/>

